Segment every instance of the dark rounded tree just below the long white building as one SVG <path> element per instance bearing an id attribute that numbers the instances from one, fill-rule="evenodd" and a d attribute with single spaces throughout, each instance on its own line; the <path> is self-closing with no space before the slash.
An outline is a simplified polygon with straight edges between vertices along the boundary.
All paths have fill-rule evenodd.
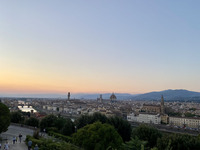
<path id="1" fill-rule="evenodd" d="M 134 138 L 138 137 L 143 141 L 148 141 L 147 146 L 153 148 L 157 144 L 157 139 L 162 137 L 162 134 L 154 127 L 140 125 L 135 130 L 133 130 L 132 136 Z"/>

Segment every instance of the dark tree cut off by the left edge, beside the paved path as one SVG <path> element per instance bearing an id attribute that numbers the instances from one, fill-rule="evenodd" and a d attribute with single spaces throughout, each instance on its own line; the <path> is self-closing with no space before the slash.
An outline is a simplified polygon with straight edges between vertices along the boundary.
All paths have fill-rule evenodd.
<path id="1" fill-rule="evenodd" d="M 10 110 L 0 102 L 0 133 L 7 131 L 10 125 Z"/>

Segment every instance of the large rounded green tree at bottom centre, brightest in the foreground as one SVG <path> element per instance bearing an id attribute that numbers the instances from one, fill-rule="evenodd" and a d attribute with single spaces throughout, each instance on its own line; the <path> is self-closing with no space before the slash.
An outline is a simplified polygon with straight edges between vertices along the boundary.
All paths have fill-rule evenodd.
<path id="1" fill-rule="evenodd" d="M 116 149 L 123 142 L 113 126 L 100 122 L 79 129 L 73 134 L 72 141 L 87 150 L 105 150 L 108 147 Z"/>

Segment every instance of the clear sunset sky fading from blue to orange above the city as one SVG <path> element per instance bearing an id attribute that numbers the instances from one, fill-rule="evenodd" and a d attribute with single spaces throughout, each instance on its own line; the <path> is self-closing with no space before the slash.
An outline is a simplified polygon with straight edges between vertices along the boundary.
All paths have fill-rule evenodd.
<path id="1" fill-rule="evenodd" d="M 200 92 L 200 1 L 0 1 L 0 93 Z"/>

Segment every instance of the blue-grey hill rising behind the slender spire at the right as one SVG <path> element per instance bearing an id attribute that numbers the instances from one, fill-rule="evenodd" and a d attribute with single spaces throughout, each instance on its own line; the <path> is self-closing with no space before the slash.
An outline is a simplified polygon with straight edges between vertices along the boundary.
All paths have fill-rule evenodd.
<path id="1" fill-rule="evenodd" d="M 165 90 L 150 92 L 131 97 L 132 100 L 160 100 L 161 95 L 165 100 L 197 100 L 200 101 L 200 93 L 188 90 Z"/>

